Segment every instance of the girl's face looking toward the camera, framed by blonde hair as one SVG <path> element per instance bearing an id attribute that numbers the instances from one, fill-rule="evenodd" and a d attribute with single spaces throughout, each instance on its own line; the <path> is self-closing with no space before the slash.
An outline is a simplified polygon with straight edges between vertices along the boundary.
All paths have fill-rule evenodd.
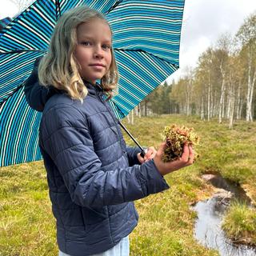
<path id="1" fill-rule="evenodd" d="M 78 44 L 74 57 L 81 66 L 79 74 L 95 84 L 110 68 L 112 35 L 110 27 L 99 18 L 82 23 L 77 30 Z"/>

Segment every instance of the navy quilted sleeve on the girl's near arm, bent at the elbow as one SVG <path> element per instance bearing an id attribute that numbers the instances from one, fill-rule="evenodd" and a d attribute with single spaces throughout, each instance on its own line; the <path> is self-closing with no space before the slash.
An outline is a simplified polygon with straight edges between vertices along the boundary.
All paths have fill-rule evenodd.
<path id="1" fill-rule="evenodd" d="M 40 130 L 42 150 L 54 161 L 76 204 L 114 205 L 169 188 L 153 161 L 104 171 L 85 123 L 79 110 L 62 105 L 43 115 Z"/>

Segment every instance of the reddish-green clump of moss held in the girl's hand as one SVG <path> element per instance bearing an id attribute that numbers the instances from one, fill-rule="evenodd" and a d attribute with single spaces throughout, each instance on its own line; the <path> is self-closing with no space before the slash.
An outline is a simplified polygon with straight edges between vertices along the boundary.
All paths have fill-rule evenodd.
<path id="1" fill-rule="evenodd" d="M 172 124 L 165 127 L 162 137 L 166 141 L 166 148 L 162 155 L 163 162 L 172 162 L 181 158 L 185 143 L 193 146 L 194 161 L 198 158 L 198 154 L 195 152 L 195 146 L 199 144 L 199 138 L 194 133 L 193 128 L 187 128 L 186 126 L 180 127 Z"/>

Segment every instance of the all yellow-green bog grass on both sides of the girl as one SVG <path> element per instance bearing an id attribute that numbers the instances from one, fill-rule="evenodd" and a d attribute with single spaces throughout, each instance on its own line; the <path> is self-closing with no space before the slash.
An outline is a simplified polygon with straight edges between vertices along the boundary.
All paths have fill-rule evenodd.
<path id="1" fill-rule="evenodd" d="M 166 176 L 170 190 L 135 202 L 140 220 L 130 234 L 130 255 L 218 255 L 195 241 L 196 214 L 190 205 L 210 197 L 214 191 L 200 178 L 204 173 L 219 173 L 230 178 L 244 187 L 256 202 L 256 124 L 241 121 L 229 130 L 228 124 L 218 124 L 216 120 L 203 122 L 178 115 L 135 118 L 134 126 L 126 120 L 123 123 L 142 146 L 158 147 L 159 134 L 171 123 L 194 127 L 202 143 L 198 148 L 200 158 L 193 166 Z M 133 145 L 124 135 L 127 144 Z M 0 255 L 57 255 L 55 221 L 42 161 L 3 167 L 0 177 Z M 230 231 L 230 237 L 242 229 L 242 223 L 234 218 L 239 207 L 232 206 L 227 215 L 230 217 L 226 218 L 224 228 L 227 234 Z M 254 215 L 250 215 L 251 210 L 246 206 L 242 207 L 244 215 L 240 218 L 250 223 Z M 254 238 L 255 234 L 256 225 L 252 225 L 246 238 L 248 235 Z M 245 233 L 239 235 L 243 237 Z"/>

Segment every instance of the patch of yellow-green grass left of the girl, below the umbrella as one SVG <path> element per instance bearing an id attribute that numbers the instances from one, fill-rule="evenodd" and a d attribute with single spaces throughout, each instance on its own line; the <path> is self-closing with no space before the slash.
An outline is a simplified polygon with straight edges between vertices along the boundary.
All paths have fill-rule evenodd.
<path id="1" fill-rule="evenodd" d="M 1 168 L 0 255 L 57 255 L 42 161 Z"/>

